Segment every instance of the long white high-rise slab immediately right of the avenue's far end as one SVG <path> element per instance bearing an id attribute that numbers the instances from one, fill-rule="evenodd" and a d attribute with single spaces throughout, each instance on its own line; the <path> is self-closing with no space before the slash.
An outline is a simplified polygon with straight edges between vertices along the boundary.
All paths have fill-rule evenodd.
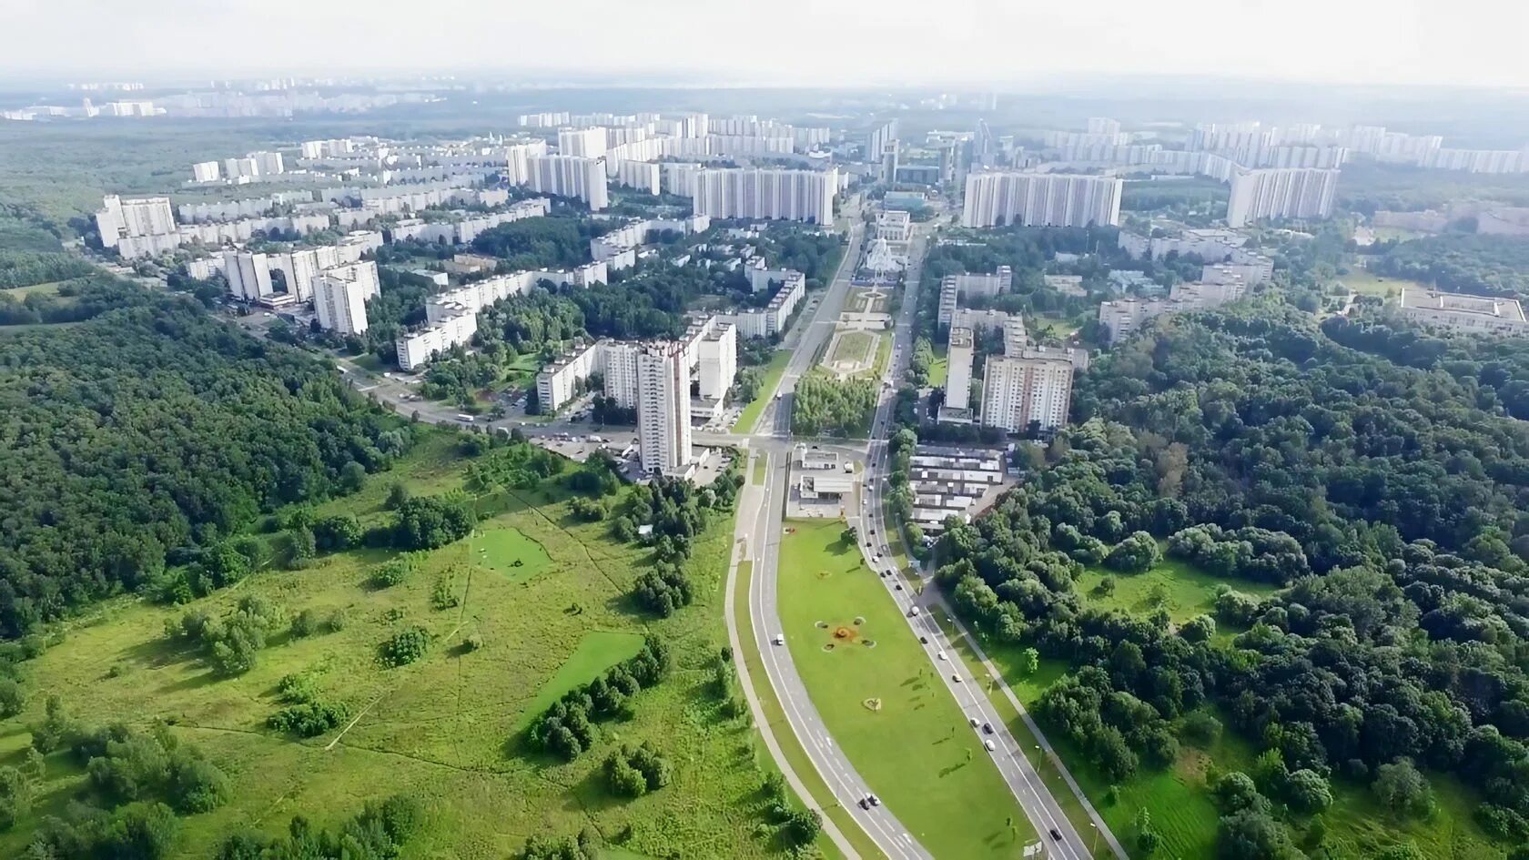
<path id="1" fill-rule="evenodd" d="M 971 173 L 962 226 L 1118 225 L 1122 188 L 1113 176 Z"/>

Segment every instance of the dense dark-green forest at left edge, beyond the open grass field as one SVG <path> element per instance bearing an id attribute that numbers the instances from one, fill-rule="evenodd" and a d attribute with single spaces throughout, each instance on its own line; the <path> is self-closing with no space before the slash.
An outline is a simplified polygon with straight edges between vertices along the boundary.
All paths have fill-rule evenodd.
<path id="1" fill-rule="evenodd" d="M 115 282 L 86 300 L 102 312 L 0 338 L 0 635 L 150 585 L 408 444 L 332 369 L 188 298 Z"/>

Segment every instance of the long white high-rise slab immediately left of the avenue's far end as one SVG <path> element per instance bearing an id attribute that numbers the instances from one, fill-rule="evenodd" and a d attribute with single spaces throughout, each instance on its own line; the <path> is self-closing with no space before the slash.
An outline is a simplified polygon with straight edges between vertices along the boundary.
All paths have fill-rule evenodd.
<path id="1" fill-rule="evenodd" d="M 696 214 L 833 223 L 838 170 L 728 168 L 696 176 Z"/>

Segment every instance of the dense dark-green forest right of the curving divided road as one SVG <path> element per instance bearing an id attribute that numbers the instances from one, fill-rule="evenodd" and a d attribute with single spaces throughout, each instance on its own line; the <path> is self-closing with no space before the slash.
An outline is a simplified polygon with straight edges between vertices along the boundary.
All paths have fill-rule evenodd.
<path id="1" fill-rule="evenodd" d="M 939 577 L 983 630 L 1078 669 L 1037 712 L 1110 779 L 1226 715 L 1261 756 L 1212 785 L 1222 857 L 1297 857 L 1287 825 L 1309 840 L 1338 779 L 1427 814 L 1417 768 L 1474 787 L 1483 829 L 1521 843 L 1529 430 L 1483 395 L 1274 301 L 1159 318 L 1079 376 L 1046 465 L 940 539 Z M 1131 575 L 1159 540 L 1231 583 L 1216 618 L 1083 603 L 1083 565 Z"/>

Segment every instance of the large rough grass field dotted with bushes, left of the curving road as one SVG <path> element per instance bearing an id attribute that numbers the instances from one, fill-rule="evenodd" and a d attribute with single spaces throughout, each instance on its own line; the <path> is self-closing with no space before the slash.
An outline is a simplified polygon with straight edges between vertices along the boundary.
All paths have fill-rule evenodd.
<path id="1" fill-rule="evenodd" d="M 416 494 L 460 487 L 465 464 L 454 447 L 453 435 L 433 433 L 393 471 L 320 513 L 384 522 L 382 499 L 394 480 Z M 719 516 L 694 543 L 694 604 L 653 618 L 633 614 L 627 598 L 650 552 L 612 542 L 605 523 L 575 522 L 564 502 L 549 497 L 561 496 L 495 494 L 482 505 L 498 511 L 480 522 L 491 546 L 541 548 L 546 560 L 531 577 L 485 572 L 468 563 L 472 543 L 463 540 L 428 554 L 408 580 L 387 589 L 368 588 L 367 578 L 388 551 L 362 549 L 321 557 L 303 571 L 258 572 L 188 608 L 131 598 L 99 604 L 28 664 L 37 684 L 29 684 L 26 712 L 0 722 L 0 764 L 20 761 L 29 744 L 24 727 L 41 718 L 46 690 L 89 724 L 162 719 L 229 774 L 228 805 L 183 819 L 177 860 L 213 855 L 243 826 L 284 832 L 294 814 L 330 826 L 393 793 L 425 805 L 407 851 L 417 858 L 502 860 L 531 834 L 573 834 L 586 825 L 607 837 L 630 825 L 619 848 L 650 857 L 777 855 L 774 837 L 755 832 L 758 736 L 723 715 L 711 684 L 726 643 L 720 585 L 731 520 Z M 442 575 L 453 578 L 460 601 L 437 611 L 431 591 Z M 278 634 L 251 672 L 226 679 L 165 640 L 165 621 L 187 609 L 222 614 L 245 595 L 268 597 L 289 615 L 344 609 L 349 623 L 309 638 Z M 413 624 L 433 637 L 427 655 L 382 669 L 378 644 Z M 647 632 L 671 644 L 674 670 L 635 698 L 630 721 L 601 725 L 593 748 L 572 764 L 524 748 L 518 728 L 549 696 L 630 653 Z M 457 647 L 472 634 L 482 647 Z M 310 675 L 324 701 L 349 705 L 355 725 L 307 741 L 266 728 L 278 681 L 295 672 Z M 618 741 L 653 742 L 670 759 L 673 782 L 630 802 L 610 796 L 601 764 Z M 38 820 L 60 814 L 83 780 L 81 768 L 50 756 L 31 816 L 0 834 L 0 857 L 20 855 Z"/>

